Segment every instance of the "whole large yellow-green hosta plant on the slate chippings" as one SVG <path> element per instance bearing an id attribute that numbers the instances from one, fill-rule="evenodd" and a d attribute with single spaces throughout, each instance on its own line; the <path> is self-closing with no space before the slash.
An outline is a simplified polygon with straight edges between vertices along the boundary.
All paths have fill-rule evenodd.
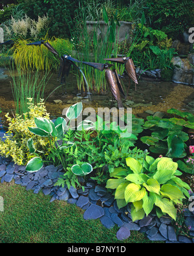
<path id="1" fill-rule="evenodd" d="M 133 222 L 155 211 L 157 216 L 169 215 L 176 220 L 176 204 L 182 204 L 185 196 L 189 197 L 189 185 L 177 176 L 177 163 L 169 157 L 138 161 L 126 158 L 127 168 L 115 169 L 107 181 L 107 189 L 114 189 L 118 207 L 131 204 Z"/>

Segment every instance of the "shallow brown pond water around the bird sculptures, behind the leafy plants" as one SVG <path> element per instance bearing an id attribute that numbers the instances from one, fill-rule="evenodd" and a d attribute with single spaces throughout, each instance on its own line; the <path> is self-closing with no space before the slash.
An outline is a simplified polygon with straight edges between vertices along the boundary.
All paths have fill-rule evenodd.
<path id="1" fill-rule="evenodd" d="M 17 76 L 17 72 L 14 71 L 13 75 Z M 11 83 L 12 77 L 9 71 L 0 68 L 0 108 L 5 113 L 14 110 Z M 129 80 L 122 79 L 122 84 L 127 89 Z M 51 115 L 59 116 L 63 108 L 80 101 L 83 105 L 93 108 L 111 107 L 112 95 L 108 86 L 100 94 L 97 91 L 91 91 L 91 100 L 89 100 L 86 91 L 78 91 L 76 76 L 70 74 L 66 80 L 66 88 L 67 93 L 63 94 L 64 88 L 60 86 L 58 74 L 52 73 L 44 93 L 44 99 L 47 99 L 46 106 Z M 143 113 L 145 110 L 166 111 L 169 108 L 194 113 L 193 99 L 194 89 L 191 86 L 140 78 L 136 91 L 135 84 L 131 82 L 129 95 L 126 100 L 123 100 L 123 104 L 125 108 L 131 107 L 134 114 Z M 116 102 L 114 106 L 117 106 Z"/>

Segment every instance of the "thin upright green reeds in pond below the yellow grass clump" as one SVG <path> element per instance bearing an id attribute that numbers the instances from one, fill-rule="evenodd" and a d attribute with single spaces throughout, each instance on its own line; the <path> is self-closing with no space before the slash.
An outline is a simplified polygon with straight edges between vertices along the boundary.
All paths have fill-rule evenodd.
<path id="1" fill-rule="evenodd" d="M 13 75 L 13 69 L 10 70 L 12 77 L 12 94 L 16 113 L 22 115 L 28 112 L 28 98 L 37 104 L 44 99 L 44 91 L 50 78 L 48 71 L 41 73 L 39 71 L 23 71 L 17 66 L 17 74 Z"/>

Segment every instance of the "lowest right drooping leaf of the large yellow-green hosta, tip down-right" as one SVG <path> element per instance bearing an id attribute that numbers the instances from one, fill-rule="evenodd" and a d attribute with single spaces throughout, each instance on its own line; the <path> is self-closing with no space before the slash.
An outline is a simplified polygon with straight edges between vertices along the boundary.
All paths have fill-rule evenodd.
<path id="1" fill-rule="evenodd" d="M 167 213 L 173 220 L 177 218 L 177 209 L 173 205 L 173 202 L 167 198 L 162 198 L 162 196 L 158 196 L 155 194 L 155 205 L 160 207 L 163 213 Z"/>

